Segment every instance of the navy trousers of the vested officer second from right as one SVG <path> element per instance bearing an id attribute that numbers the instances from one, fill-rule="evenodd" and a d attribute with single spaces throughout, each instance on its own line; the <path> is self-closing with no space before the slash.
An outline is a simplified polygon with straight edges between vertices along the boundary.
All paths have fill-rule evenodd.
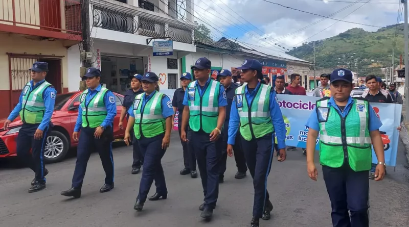
<path id="1" fill-rule="evenodd" d="M 256 218 L 261 218 L 265 202 L 270 198 L 267 191 L 267 176 L 270 173 L 273 154 L 272 135 L 265 135 L 251 141 L 241 138 L 247 167 L 253 178 L 253 216 Z"/>

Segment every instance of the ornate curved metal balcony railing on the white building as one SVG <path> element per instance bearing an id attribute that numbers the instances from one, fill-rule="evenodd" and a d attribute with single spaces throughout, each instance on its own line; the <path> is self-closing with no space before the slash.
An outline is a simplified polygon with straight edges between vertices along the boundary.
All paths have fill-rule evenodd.
<path id="1" fill-rule="evenodd" d="M 141 2 L 141 1 L 140 1 Z M 146 2 L 146 1 L 142 1 Z M 193 43 L 193 24 L 143 8 L 109 0 L 91 1 L 95 27 L 151 38 Z"/>

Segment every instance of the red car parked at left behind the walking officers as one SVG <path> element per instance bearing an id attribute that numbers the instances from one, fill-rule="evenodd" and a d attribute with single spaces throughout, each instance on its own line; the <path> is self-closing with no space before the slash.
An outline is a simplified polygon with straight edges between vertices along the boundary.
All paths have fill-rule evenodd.
<path id="1" fill-rule="evenodd" d="M 57 94 L 55 98 L 54 113 L 51 117 L 54 128 L 48 134 L 46 147 L 44 148 L 44 159 L 47 163 L 63 160 L 69 148 L 75 147 L 78 144 L 78 142 L 72 139 L 72 135 L 78 116 L 80 94 L 80 91 L 69 92 Z M 118 124 L 124 96 L 117 93 L 113 94 L 117 104 L 117 116 L 113 120 L 113 136 L 115 139 L 122 139 L 124 138 L 125 130 L 120 129 Z M 22 124 L 20 117 L 17 117 L 9 125 L 9 130 L 3 130 L 5 121 L 6 119 L 0 120 L 0 158 L 17 156 L 16 139 Z M 124 125 L 126 127 L 126 119 Z"/>

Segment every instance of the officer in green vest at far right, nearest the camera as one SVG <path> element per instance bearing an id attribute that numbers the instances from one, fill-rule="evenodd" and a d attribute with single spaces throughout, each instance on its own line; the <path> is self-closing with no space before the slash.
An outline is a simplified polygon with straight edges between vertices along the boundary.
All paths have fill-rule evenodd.
<path id="1" fill-rule="evenodd" d="M 308 175 L 312 180 L 317 180 L 314 150 L 320 133 L 320 163 L 331 200 L 334 227 L 369 226 L 368 171 L 372 163 L 371 141 L 379 161 L 375 180 L 382 180 L 385 174 L 385 158 L 379 132 L 382 123 L 367 100 L 350 96 L 352 81 L 351 71 L 334 70 L 330 85 L 332 97 L 317 100 L 306 124 L 309 128 Z"/>

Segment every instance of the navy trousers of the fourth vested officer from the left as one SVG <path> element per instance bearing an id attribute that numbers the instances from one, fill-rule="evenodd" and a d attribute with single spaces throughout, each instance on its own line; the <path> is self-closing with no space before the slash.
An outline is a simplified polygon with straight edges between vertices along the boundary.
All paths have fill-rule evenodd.
<path id="1" fill-rule="evenodd" d="M 202 131 L 189 132 L 189 143 L 196 154 L 197 167 L 199 168 L 205 207 L 216 207 L 219 196 L 219 165 L 222 149 L 222 138 L 210 141 L 210 134 Z"/>

